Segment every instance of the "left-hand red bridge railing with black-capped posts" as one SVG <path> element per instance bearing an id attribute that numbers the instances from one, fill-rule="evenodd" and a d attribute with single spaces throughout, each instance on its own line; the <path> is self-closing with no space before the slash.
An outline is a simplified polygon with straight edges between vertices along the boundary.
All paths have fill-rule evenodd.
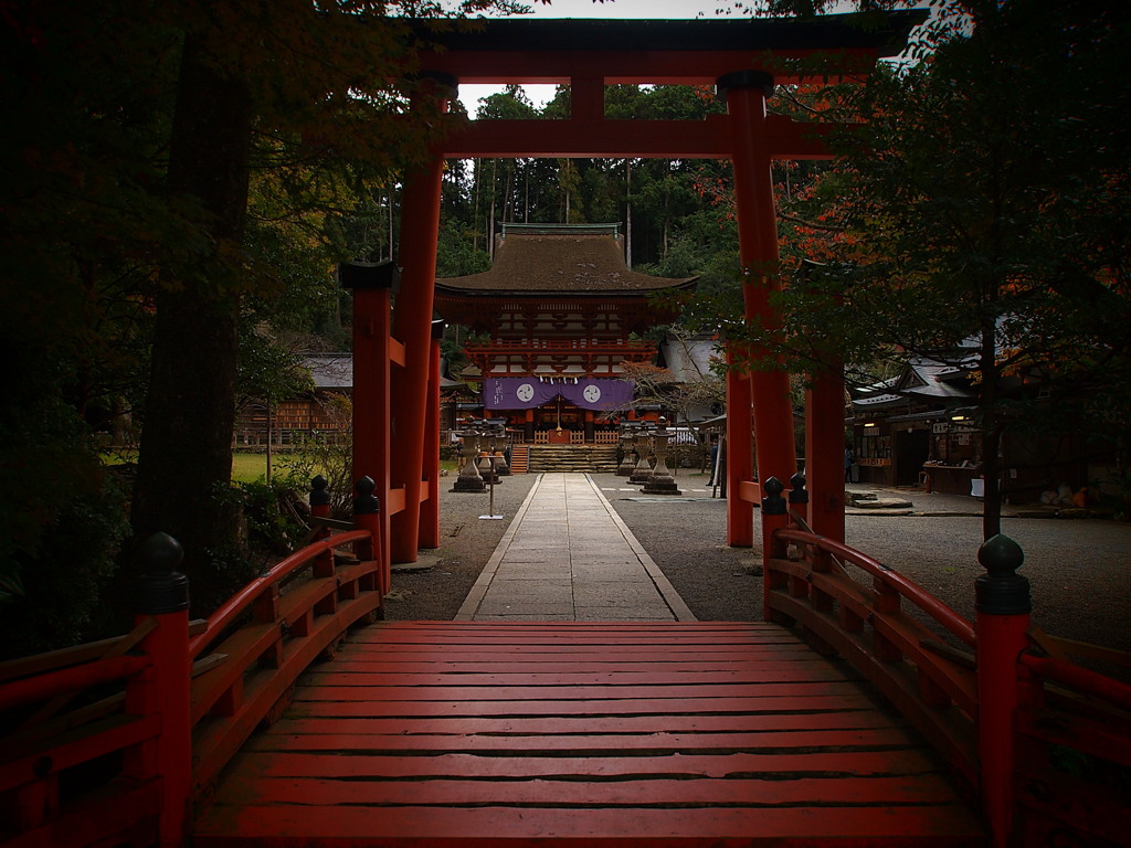
<path id="1" fill-rule="evenodd" d="M 372 491 L 359 483 L 357 529 L 323 522 L 207 621 L 189 622 L 183 554 L 158 534 L 131 633 L 0 664 L 0 845 L 183 846 L 193 804 L 299 675 L 375 618 Z"/>

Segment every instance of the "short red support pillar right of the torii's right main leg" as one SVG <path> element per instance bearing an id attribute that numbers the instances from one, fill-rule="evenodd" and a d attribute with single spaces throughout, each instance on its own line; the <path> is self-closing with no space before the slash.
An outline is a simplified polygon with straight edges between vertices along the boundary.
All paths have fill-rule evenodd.
<path id="1" fill-rule="evenodd" d="M 805 392 L 805 485 L 809 526 L 845 540 L 845 381 L 840 363 L 813 377 Z"/>

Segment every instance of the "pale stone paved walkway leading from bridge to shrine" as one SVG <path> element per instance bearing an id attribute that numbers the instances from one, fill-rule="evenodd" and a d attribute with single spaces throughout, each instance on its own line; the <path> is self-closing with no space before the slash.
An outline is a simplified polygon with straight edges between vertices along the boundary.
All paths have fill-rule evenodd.
<path id="1" fill-rule="evenodd" d="M 585 474 L 544 474 L 456 621 L 696 621 Z"/>

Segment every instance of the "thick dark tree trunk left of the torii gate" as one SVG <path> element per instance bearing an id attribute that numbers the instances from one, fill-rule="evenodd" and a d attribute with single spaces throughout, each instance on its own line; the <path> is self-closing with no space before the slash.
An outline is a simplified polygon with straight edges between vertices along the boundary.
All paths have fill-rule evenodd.
<path id="1" fill-rule="evenodd" d="M 170 147 L 171 199 L 195 198 L 208 223 L 204 256 L 162 268 L 146 418 L 135 492 L 135 536 L 164 530 L 184 546 L 195 595 L 216 581 L 216 552 L 234 539 L 232 474 L 239 296 L 235 257 L 248 206 L 251 105 L 239 79 L 185 41 Z"/>

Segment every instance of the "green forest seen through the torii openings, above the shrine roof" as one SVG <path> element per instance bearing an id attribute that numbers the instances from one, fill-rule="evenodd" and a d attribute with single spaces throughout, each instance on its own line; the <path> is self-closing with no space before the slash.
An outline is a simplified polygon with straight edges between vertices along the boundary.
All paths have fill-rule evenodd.
<path id="1" fill-rule="evenodd" d="M 560 120 L 570 89 L 560 86 L 541 110 L 520 89 L 481 101 L 477 118 Z M 612 119 L 699 120 L 724 111 L 714 93 L 690 86 L 607 86 Z M 723 180 L 725 163 L 659 159 L 486 159 L 468 174 L 449 163 L 440 235 L 440 276 L 486 268 L 492 222 L 625 223 L 631 263 L 663 276 L 706 275 L 709 286 L 732 285 L 719 272 L 720 253 L 734 252 L 734 220 L 703 183 Z"/>

